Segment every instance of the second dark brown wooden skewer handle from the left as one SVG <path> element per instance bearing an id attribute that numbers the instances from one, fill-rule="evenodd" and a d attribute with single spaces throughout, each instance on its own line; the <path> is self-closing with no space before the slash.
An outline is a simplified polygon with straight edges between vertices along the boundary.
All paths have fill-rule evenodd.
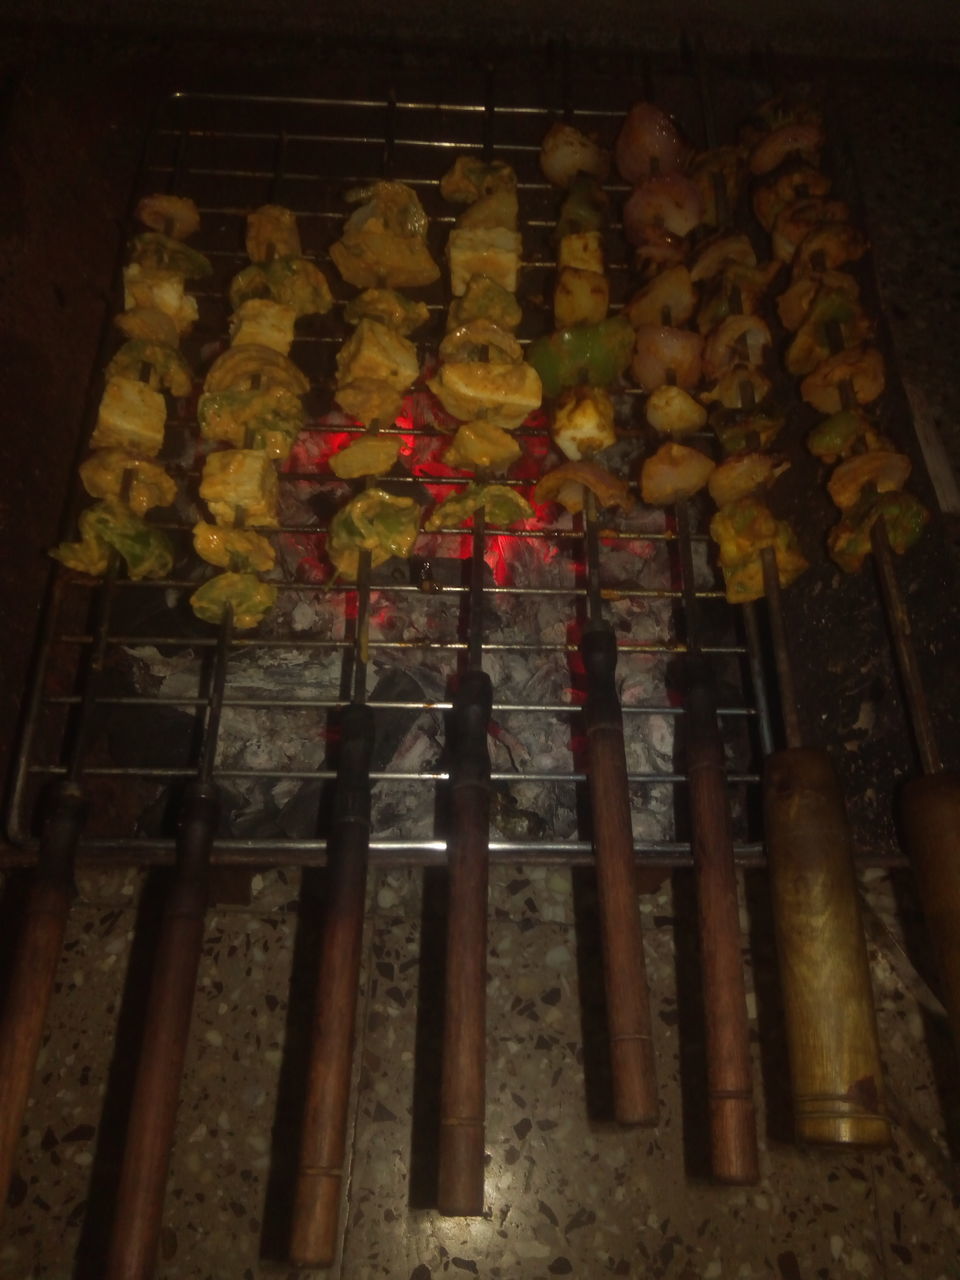
<path id="1" fill-rule="evenodd" d="M 106 1280 L 154 1274 L 183 1060 L 204 942 L 210 846 L 218 797 L 193 783 L 180 813 L 179 867 L 168 896 L 147 997 L 116 1193 Z"/>

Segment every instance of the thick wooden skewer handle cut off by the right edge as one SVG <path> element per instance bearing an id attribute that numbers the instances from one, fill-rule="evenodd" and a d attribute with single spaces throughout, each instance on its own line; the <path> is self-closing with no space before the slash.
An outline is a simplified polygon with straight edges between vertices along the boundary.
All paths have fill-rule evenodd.
<path id="1" fill-rule="evenodd" d="M 908 782 L 900 814 L 940 972 L 940 995 L 960 1053 L 960 777 L 936 773 Z"/>

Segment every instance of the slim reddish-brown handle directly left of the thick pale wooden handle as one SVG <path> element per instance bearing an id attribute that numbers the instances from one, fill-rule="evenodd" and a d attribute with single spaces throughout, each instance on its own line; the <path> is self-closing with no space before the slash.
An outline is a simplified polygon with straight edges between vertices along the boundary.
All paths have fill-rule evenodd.
<path id="1" fill-rule="evenodd" d="M 687 689 L 686 764 L 707 1024 L 712 1167 L 721 1181 L 755 1183 L 760 1169 L 733 831 L 723 741 L 707 675 L 696 676 Z"/>

